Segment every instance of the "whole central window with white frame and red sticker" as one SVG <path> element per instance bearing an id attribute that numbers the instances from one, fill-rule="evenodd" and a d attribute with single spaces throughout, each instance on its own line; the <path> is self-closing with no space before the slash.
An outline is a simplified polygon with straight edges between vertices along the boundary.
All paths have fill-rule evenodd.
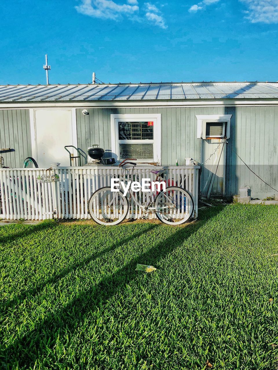
<path id="1" fill-rule="evenodd" d="M 160 114 L 112 114 L 112 152 L 116 159 L 161 162 Z"/>

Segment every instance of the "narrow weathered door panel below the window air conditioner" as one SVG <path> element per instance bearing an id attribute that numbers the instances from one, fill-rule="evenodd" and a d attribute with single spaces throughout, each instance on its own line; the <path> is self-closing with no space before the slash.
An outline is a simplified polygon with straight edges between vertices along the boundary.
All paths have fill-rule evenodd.
<path id="1" fill-rule="evenodd" d="M 205 198 L 225 195 L 225 145 L 224 139 L 202 140 L 201 194 Z"/>

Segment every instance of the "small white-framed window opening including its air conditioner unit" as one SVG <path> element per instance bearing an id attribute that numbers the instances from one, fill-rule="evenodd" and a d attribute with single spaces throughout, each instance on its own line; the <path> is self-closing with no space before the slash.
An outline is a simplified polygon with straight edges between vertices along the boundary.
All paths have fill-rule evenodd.
<path id="1" fill-rule="evenodd" d="M 196 115 L 197 138 L 229 138 L 231 127 L 231 114 Z"/>

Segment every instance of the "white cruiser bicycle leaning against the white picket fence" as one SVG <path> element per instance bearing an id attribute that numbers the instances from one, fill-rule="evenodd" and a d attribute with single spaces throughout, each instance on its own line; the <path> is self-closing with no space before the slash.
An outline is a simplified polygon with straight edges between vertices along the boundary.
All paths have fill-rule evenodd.
<path id="1" fill-rule="evenodd" d="M 119 167 L 122 168 L 120 181 L 127 183 L 130 178 L 123 177 L 125 165 L 131 164 L 133 179 L 133 171 L 136 163 L 130 162 L 136 159 L 126 158 L 120 162 Z M 156 180 L 163 179 L 165 170 L 150 171 L 156 175 Z M 156 196 L 152 201 L 151 193 L 147 195 L 147 201 L 139 202 L 133 191 L 129 188 L 129 198 L 133 199 L 136 205 L 142 208 L 143 214 L 148 215 L 150 212 L 155 212 L 157 218 L 168 225 L 181 225 L 188 221 L 194 211 L 194 203 L 192 196 L 185 189 L 178 186 L 168 186 L 165 191 L 157 188 Z M 88 210 L 91 218 L 100 225 L 118 225 L 122 222 L 129 211 L 129 200 L 124 196 L 122 189 L 119 192 L 112 192 L 109 186 L 96 190 L 89 199 Z M 146 218 L 146 216 L 144 217 Z"/>

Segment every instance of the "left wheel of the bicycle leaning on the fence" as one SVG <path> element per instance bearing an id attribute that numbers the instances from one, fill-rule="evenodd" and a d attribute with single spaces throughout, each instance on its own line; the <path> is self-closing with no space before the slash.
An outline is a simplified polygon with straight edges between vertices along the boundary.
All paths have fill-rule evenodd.
<path id="1" fill-rule="evenodd" d="M 100 225 L 118 225 L 126 218 L 128 209 L 128 200 L 123 192 L 112 192 L 110 187 L 95 191 L 88 202 L 92 219 Z"/>

